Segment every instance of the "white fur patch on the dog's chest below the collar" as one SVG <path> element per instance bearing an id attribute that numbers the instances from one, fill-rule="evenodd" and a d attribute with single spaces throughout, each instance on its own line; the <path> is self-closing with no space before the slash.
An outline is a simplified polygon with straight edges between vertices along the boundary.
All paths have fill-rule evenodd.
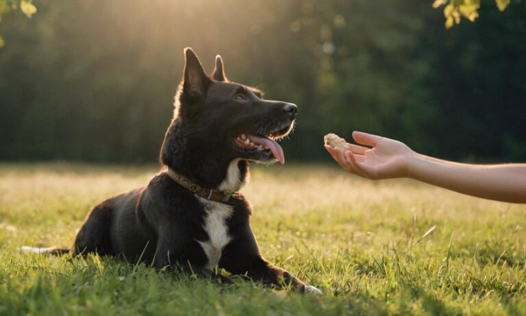
<path id="1" fill-rule="evenodd" d="M 207 214 L 203 228 L 210 236 L 210 239 L 197 242 L 201 244 L 208 257 L 208 263 L 205 267 L 212 270 L 219 263 L 223 248 L 231 241 L 226 221 L 231 217 L 234 209 L 227 204 L 209 201 L 202 197 L 199 197 L 199 201 Z"/>

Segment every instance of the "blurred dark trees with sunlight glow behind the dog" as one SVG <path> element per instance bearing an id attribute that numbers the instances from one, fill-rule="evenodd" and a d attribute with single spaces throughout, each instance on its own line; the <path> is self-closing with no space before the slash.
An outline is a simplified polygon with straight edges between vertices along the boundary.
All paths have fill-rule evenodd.
<path id="1" fill-rule="evenodd" d="M 526 2 L 447 30 L 431 1 L 34 1 L 0 23 L 0 160 L 155 162 L 184 47 L 299 106 L 288 160 L 364 130 L 424 154 L 526 160 Z"/>

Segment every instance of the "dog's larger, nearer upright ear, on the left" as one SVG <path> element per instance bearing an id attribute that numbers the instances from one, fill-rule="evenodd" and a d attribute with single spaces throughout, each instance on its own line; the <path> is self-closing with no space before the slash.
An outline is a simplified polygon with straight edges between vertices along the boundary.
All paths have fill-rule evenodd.
<path id="1" fill-rule="evenodd" d="M 203 95 L 210 78 L 206 75 L 203 65 L 190 47 L 184 49 L 184 58 L 183 93 L 192 96 Z"/>

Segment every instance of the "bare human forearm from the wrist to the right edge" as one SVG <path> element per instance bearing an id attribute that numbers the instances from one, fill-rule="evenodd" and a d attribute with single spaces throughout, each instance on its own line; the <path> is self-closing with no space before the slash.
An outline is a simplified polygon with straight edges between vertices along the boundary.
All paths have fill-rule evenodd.
<path id="1" fill-rule="evenodd" d="M 469 165 L 416 154 L 408 177 L 485 199 L 526 203 L 526 164 Z"/>

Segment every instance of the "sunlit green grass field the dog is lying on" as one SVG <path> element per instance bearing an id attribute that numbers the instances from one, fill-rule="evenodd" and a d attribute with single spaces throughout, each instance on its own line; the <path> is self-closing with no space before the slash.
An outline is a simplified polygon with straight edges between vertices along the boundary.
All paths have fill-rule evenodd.
<path id="1" fill-rule="evenodd" d="M 71 245 L 91 206 L 156 171 L 0 165 L 0 315 L 526 314 L 525 206 L 323 166 L 259 167 L 244 189 L 264 256 L 323 296 L 17 251 Z"/>

